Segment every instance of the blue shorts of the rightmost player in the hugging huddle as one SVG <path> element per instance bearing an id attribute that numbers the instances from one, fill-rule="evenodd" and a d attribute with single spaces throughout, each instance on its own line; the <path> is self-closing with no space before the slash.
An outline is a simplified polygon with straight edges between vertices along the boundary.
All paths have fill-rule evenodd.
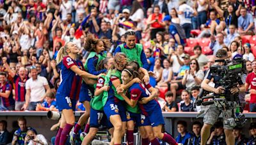
<path id="1" fill-rule="evenodd" d="M 158 125 L 164 125 L 164 118 L 160 106 L 155 106 L 151 112 L 148 113 L 149 121 L 152 127 L 157 127 Z"/>

